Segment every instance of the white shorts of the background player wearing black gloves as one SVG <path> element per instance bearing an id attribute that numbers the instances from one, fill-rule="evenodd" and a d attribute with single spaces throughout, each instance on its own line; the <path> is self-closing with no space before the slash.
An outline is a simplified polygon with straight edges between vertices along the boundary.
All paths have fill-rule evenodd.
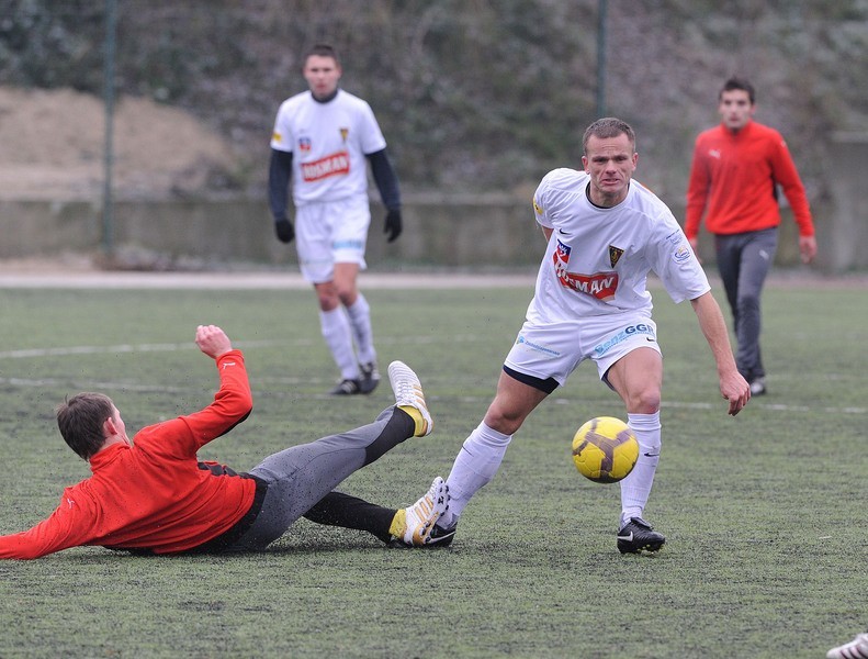
<path id="1" fill-rule="evenodd" d="M 311 283 L 331 281 L 335 264 L 358 264 L 364 270 L 370 225 L 367 196 L 296 208 L 295 249 L 302 277 Z"/>

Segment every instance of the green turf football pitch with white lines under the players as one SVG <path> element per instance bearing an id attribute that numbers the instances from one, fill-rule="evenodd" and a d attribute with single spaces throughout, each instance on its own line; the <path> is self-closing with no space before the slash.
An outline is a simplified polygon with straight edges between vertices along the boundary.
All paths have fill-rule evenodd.
<path id="1" fill-rule="evenodd" d="M 420 375 L 430 437 L 352 476 L 387 505 L 447 476 L 481 420 L 529 289 L 371 290 L 381 366 Z M 720 299 L 720 298 L 719 298 Z M 688 304 L 655 293 L 663 458 L 656 556 L 621 556 L 618 487 L 582 479 L 570 442 L 623 416 L 583 365 L 516 436 L 450 549 L 388 550 L 300 522 L 266 554 L 139 558 L 93 548 L 0 563 L 0 657 L 823 657 L 868 626 L 866 292 L 770 287 L 769 394 L 725 414 Z M 196 324 L 245 350 L 251 417 L 201 454 L 237 469 L 367 423 L 391 403 L 331 400 L 309 291 L 0 290 L 0 533 L 89 474 L 53 409 L 99 390 L 127 428 L 211 401 Z"/>

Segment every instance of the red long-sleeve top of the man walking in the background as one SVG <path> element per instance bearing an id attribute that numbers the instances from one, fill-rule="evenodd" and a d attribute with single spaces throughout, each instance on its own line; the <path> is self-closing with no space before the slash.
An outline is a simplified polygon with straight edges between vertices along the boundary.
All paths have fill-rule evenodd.
<path id="1" fill-rule="evenodd" d="M 778 183 L 790 202 L 799 235 L 814 235 L 804 187 L 780 133 L 755 121 L 735 133 L 722 124 L 700 133 L 687 188 L 685 234 L 697 236 L 706 208 L 706 226 L 712 234 L 777 226 Z"/>

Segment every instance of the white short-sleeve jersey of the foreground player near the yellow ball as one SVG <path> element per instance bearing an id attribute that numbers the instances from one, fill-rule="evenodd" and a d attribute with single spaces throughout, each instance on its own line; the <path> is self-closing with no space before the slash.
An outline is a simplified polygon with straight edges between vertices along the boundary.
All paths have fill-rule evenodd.
<path id="1" fill-rule="evenodd" d="M 699 260 L 672 211 L 636 181 L 610 209 L 590 202 L 590 177 L 555 169 L 533 197 L 537 222 L 553 230 L 528 320 L 555 323 L 643 312 L 651 316 L 650 271 L 677 303 L 710 290 Z"/>

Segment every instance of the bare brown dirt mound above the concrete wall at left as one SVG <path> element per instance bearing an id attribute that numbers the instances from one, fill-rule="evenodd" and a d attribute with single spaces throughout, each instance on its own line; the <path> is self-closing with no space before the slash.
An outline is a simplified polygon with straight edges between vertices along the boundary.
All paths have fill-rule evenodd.
<path id="1" fill-rule="evenodd" d="M 228 143 L 181 110 L 125 97 L 113 118 L 119 198 L 195 194 L 237 169 Z M 102 99 L 0 87 L 0 200 L 99 199 L 104 172 Z"/>

